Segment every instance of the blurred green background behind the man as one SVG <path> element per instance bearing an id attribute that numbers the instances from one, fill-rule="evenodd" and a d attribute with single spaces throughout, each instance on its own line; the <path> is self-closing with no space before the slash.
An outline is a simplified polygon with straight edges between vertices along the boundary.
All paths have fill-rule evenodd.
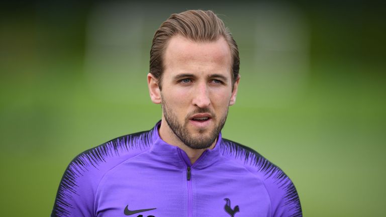
<path id="1" fill-rule="evenodd" d="M 48 216 L 74 156 L 153 127 L 151 39 L 186 9 L 239 45 L 223 136 L 279 165 L 305 216 L 386 216 L 386 7 L 368 1 L 2 2 L 1 215 Z"/>

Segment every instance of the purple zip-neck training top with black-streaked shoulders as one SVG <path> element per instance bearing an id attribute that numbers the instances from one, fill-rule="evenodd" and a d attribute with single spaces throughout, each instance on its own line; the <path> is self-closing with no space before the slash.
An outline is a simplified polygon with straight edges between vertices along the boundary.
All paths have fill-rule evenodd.
<path id="1" fill-rule="evenodd" d="M 150 131 L 78 155 L 51 216 L 302 216 L 292 181 L 254 150 L 222 139 L 191 164 Z"/>

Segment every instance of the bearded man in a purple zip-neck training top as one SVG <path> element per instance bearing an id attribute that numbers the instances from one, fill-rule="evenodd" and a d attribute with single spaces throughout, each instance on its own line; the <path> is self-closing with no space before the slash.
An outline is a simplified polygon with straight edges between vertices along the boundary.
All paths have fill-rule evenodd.
<path id="1" fill-rule="evenodd" d="M 155 32 L 147 75 L 161 121 L 77 156 L 52 216 L 302 216 L 278 167 L 221 137 L 239 81 L 223 22 L 211 11 L 173 14 Z"/>

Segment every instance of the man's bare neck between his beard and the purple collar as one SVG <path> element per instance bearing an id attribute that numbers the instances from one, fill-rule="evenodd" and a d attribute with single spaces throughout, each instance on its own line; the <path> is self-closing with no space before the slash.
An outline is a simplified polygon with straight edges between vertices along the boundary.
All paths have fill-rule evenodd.
<path id="1" fill-rule="evenodd" d="M 200 156 L 204 153 L 205 150 L 207 149 L 213 149 L 216 145 L 217 140 L 209 147 L 206 149 L 192 149 L 185 145 L 175 134 L 174 132 L 170 129 L 170 127 L 167 125 L 165 120 L 161 121 L 161 126 L 158 130 L 159 136 L 163 141 L 168 143 L 169 145 L 172 146 L 177 146 L 178 148 L 182 149 L 186 155 L 189 157 L 190 163 L 194 164 L 197 159 L 200 158 Z"/>

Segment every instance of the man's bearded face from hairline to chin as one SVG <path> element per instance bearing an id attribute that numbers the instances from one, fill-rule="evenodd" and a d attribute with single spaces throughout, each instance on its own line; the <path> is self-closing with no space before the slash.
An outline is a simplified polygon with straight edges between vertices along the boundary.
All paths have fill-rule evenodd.
<path id="1" fill-rule="evenodd" d="M 239 82 L 233 85 L 231 63 L 223 38 L 198 43 L 177 35 L 169 40 L 160 91 L 161 125 L 167 124 L 190 148 L 209 148 L 225 124 Z"/>

